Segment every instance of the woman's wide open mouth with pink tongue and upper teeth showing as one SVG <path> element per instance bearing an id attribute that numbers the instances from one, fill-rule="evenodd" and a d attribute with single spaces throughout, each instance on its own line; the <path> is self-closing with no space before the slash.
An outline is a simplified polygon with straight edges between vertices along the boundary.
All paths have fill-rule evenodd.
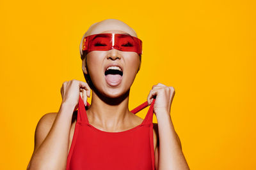
<path id="1" fill-rule="evenodd" d="M 105 78 L 108 85 L 117 86 L 121 83 L 123 71 L 118 66 L 110 66 L 105 71 Z"/>

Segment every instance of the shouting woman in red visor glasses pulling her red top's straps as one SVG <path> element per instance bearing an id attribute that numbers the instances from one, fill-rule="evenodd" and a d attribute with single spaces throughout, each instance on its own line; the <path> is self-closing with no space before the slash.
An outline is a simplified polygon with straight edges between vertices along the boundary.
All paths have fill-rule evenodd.
<path id="1" fill-rule="evenodd" d="M 100 36 L 96 37 L 96 34 Z M 94 46 L 90 46 L 92 44 L 90 42 L 94 42 L 99 37 L 103 40 L 100 39 L 99 42 L 93 44 Z M 125 41 L 133 39 L 132 43 L 134 43 L 133 45 L 136 44 L 136 48 L 131 44 L 122 45 L 124 39 Z M 101 40 L 105 42 L 102 43 Z M 89 45 L 86 44 L 88 41 L 90 41 Z M 189 169 L 170 117 L 170 107 L 175 94 L 173 87 L 158 83 L 152 87 L 147 97 L 147 104 L 152 107 L 152 111 L 154 110 L 157 117 L 157 124 L 154 124 L 154 129 L 152 128 L 154 130 L 152 131 L 152 134 L 154 134 L 154 140 L 152 138 L 152 141 L 154 141 L 154 155 L 152 155 L 154 160 L 151 161 L 152 164 L 148 157 L 150 148 L 144 146 L 147 145 L 149 140 L 146 139 L 145 143 L 138 143 L 141 135 L 137 135 L 137 137 L 134 135 L 137 131 L 143 132 L 142 128 L 147 129 L 147 126 L 140 126 L 145 121 L 128 109 L 129 91 L 136 74 L 140 70 L 141 44 L 136 32 L 120 20 L 103 20 L 93 24 L 88 29 L 80 45 L 83 61 L 82 69 L 87 83 L 78 80 L 63 83 L 60 110 L 58 113 L 45 114 L 36 126 L 35 149 L 28 169 L 79 170 L 83 169 L 82 167 L 84 169 L 97 169 L 99 167 L 101 169 L 102 167 L 104 167 L 103 169 L 128 169 L 128 167 L 130 169 L 156 168 L 160 170 Z M 107 48 L 109 45 L 111 48 Z M 92 103 L 89 106 L 86 101 L 87 97 L 91 95 L 91 89 Z M 83 104 L 86 106 L 86 110 L 83 110 Z M 149 113 L 150 111 L 148 111 Z M 77 123 L 81 116 L 84 120 L 87 120 L 87 124 L 84 124 L 84 126 L 79 126 L 80 122 Z M 92 131 L 94 136 L 89 137 L 86 132 L 90 129 L 86 128 L 92 128 L 99 133 L 93 134 L 94 131 Z M 131 136 L 125 137 L 127 134 Z M 131 141 L 129 143 L 118 141 L 123 137 L 126 138 L 125 140 L 137 142 L 137 144 L 132 145 Z M 108 143 L 107 140 L 104 141 L 105 138 L 115 138 L 115 141 L 112 141 L 115 144 Z M 146 138 L 148 138 L 147 135 Z M 102 140 L 97 141 L 97 139 Z M 124 147 L 123 143 L 125 143 Z M 111 149 L 111 146 L 117 145 L 120 148 Z M 141 145 L 140 148 L 145 147 L 145 150 L 141 150 L 145 153 L 138 152 L 135 154 L 137 148 L 134 150 L 133 147 L 137 145 Z M 150 145 L 150 147 L 153 150 L 153 145 Z M 92 153 L 90 153 L 90 148 L 92 148 Z M 104 155 L 107 154 L 105 151 L 100 152 L 99 148 L 101 150 L 108 148 L 108 155 Z M 90 156 L 90 154 L 94 154 L 93 151 L 98 154 L 95 159 L 102 159 L 93 160 L 93 156 Z M 131 155 L 129 157 L 122 155 L 124 152 L 139 155 L 138 159 L 141 159 L 141 164 L 138 164 L 136 160 L 130 160 Z M 110 157 L 115 160 L 109 159 Z M 93 164 L 90 161 L 86 162 L 88 159 L 92 159 Z M 143 159 L 145 162 L 143 162 Z M 120 165 L 124 166 L 121 167 Z"/>

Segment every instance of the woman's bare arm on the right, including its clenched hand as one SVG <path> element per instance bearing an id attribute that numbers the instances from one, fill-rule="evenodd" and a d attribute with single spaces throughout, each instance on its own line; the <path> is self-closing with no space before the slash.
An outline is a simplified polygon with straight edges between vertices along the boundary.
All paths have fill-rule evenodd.
<path id="1" fill-rule="evenodd" d="M 155 151 L 155 161 L 157 170 L 188 170 L 189 166 L 182 153 L 180 139 L 172 124 L 170 108 L 175 90 L 161 83 L 154 85 L 148 95 L 148 104 L 154 103 L 154 113 L 157 117 L 157 136 L 159 145 Z M 155 128 L 156 129 L 156 128 Z"/>

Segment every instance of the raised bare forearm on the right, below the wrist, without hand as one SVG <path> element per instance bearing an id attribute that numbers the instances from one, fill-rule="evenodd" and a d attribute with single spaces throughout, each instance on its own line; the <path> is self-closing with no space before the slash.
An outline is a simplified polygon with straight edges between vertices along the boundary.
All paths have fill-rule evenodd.
<path id="1" fill-rule="evenodd" d="M 189 169 L 170 115 L 168 113 L 158 113 L 157 115 L 161 115 L 161 118 L 157 118 L 159 131 L 159 170 Z"/>

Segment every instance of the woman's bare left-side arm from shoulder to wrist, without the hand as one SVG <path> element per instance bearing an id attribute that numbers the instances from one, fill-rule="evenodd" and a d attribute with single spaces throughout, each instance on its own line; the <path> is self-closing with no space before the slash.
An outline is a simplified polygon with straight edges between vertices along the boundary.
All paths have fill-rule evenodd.
<path id="1" fill-rule="evenodd" d="M 35 149 L 28 165 L 29 170 L 66 168 L 71 113 L 74 108 L 75 106 L 62 103 L 57 115 L 48 113 L 39 120 L 35 131 Z"/>

